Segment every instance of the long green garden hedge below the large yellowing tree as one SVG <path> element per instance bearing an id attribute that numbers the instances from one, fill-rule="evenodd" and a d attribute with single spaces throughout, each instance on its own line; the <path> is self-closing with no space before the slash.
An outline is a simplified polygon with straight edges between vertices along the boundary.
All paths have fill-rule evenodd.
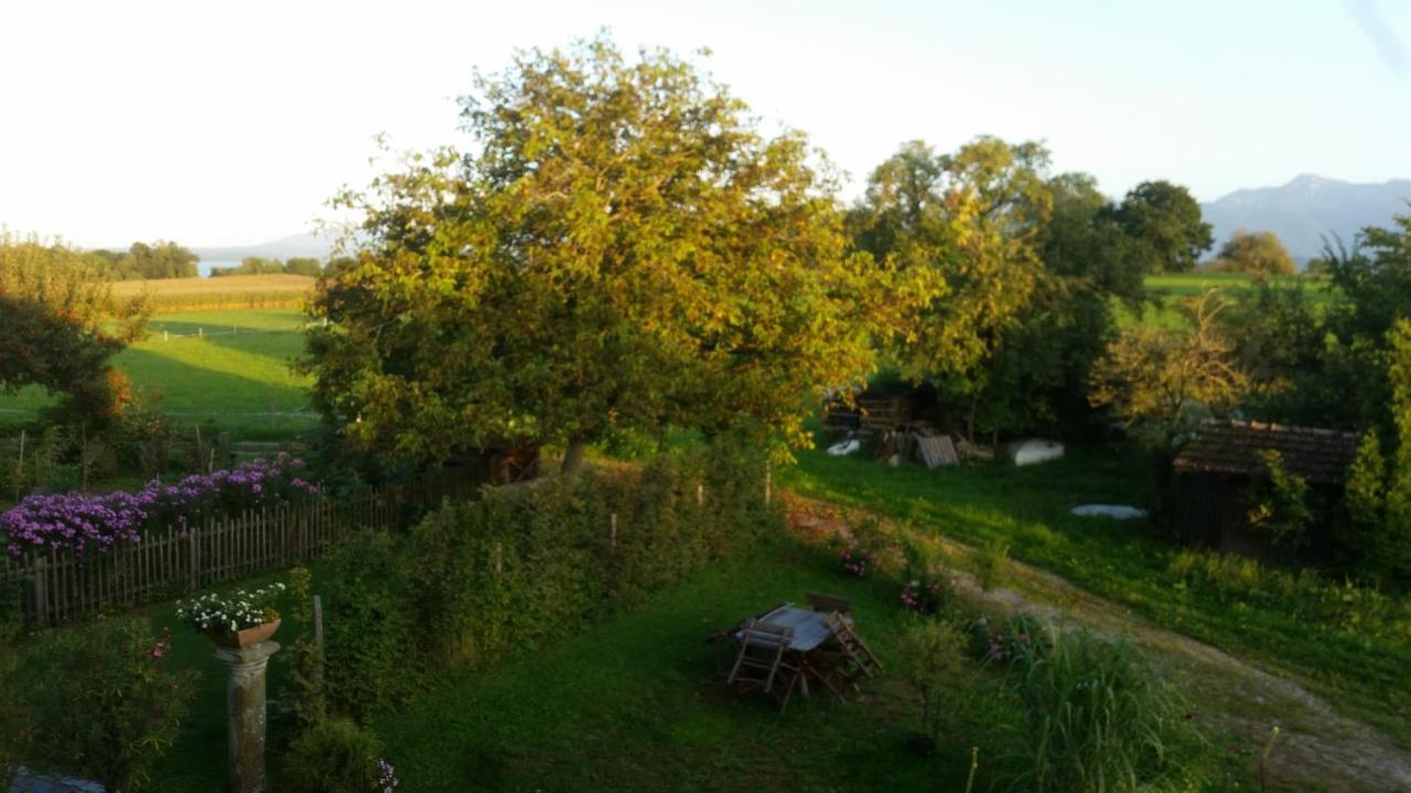
<path id="1" fill-rule="evenodd" d="M 777 526 L 763 459 L 724 444 L 447 502 L 408 535 L 364 536 L 322 566 L 329 704 L 385 711 L 429 670 L 579 632 Z"/>

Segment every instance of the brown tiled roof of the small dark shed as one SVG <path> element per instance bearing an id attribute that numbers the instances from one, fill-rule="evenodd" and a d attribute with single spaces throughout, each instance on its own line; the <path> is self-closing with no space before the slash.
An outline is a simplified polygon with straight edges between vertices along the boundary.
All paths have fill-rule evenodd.
<path id="1" fill-rule="evenodd" d="M 1342 484 L 1357 454 L 1350 432 L 1259 422 L 1205 422 L 1175 457 L 1175 470 L 1263 476 L 1259 452 L 1273 449 L 1284 470 L 1316 484 Z"/>

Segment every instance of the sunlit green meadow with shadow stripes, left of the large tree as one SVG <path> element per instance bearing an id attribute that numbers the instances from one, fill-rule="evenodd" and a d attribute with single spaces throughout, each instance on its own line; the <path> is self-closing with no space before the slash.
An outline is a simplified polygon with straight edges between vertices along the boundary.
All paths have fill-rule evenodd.
<path id="1" fill-rule="evenodd" d="M 169 313 L 114 360 L 135 387 L 159 394 L 159 409 L 178 423 L 237 439 L 288 437 L 316 423 L 308 378 L 289 371 L 303 353 L 302 327 L 296 309 Z M 28 420 L 51 402 L 38 388 L 0 395 L 0 426 Z"/>

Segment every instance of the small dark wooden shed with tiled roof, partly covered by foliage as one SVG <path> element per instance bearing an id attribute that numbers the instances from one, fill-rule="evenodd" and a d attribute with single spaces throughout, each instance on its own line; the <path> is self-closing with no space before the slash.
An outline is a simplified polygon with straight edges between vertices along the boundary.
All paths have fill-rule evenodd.
<path id="1" fill-rule="evenodd" d="M 1246 494 L 1266 478 L 1260 452 L 1274 450 L 1284 470 L 1325 495 L 1342 498 L 1348 466 L 1357 453 L 1357 436 L 1329 429 L 1259 422 L 1205 422 L 1173 463 L 1175 528 L 1185 542 L 1264 556 L 1263 538 L 1249 531 Z M 1326 526 L 1315 545 L 1326 540 Z"/>

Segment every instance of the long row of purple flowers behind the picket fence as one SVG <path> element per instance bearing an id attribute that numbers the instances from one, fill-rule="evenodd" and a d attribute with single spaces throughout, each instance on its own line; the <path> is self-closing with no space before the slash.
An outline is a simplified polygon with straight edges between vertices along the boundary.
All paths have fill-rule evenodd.
<path id="1" fill-rule="evenodd" d="M 73 549 L 106 552 L 141 542 L 143 532 L 188 526 L 261 507 L 288 507 L 319 488 L 299 473 L 303 461 L 288 454 L 254 460 L 229 470 L 193 474 L 175 484 L 147 483 L 137 492 L 28 495 L 0 515 L 6 550 Z"/>

